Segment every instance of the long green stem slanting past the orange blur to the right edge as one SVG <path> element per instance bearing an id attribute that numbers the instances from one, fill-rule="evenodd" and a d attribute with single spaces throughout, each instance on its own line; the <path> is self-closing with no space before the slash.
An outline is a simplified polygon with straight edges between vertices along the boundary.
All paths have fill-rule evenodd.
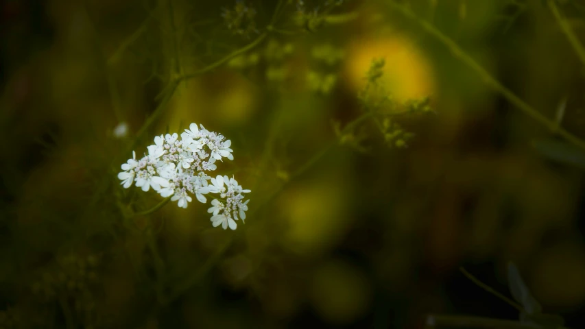
<path id="1" fill-rule="evenodd" d="M 538 121 L 538 123 L 540 123 L 541 125 L 547 127 L 549 131 L 556 133 L 559 136 L 562 136 L 562 138 L 564 138 L 569 143 L 573 143 L 573 145 L 585 150 L 585 141 L 582 141 L 582 139 L 578 138 L 577 136 L 571 134 L 570 132 L 567 132 L 561 127 L 558 127 L 558 125 L 554 121 L 545 117 L 543 114 L 532 108 L 532 106 L 529 106 L 528 103 L 523 101 L 520 97 L 516 96 L 516 94 L 514 94 L 512 90 L 506 88 L 494 77 L 492 77 L 492 75 L 490 75 L 490 73 L 488 73 L 486 69 L 483 69 L 483 67 L 479 65 L 473 58 L 471 58 L 471 56 L 469 56 L 468 53 L 466 53 L 461 47 L 459 47 L 459 45 L 457 45 L 455 41 L 453 41 L 451 38 L 440 32 L 434 25 L 425 21 L 424 19 L 421 19 L 414 12 L 412 12 L 409 8 L 407 8 L 405 5 L 402 5 L 401 3 L 396 3 L 395 1 L 386 1 L 385 3 L 390 5 L 392 9 L 403 14 L 403 16 L 418 23 L 418 25 L 420 25 L 420 27 L 422 27 L 422 29 L 424 29 L 427 33 L 431 34 L 431 36 L 435 37 L 437 40 L 442 42 L 443 45 L 445 45 L 446 47 L 449 48 L 449 50 L 451 50 L 453 56 L 461 60 L 470 69 L 475 71 L 475 73 L 477 73 L 477 75 L 479 75 L 483 79 L 483 81 L 486 82 L 486 84 L 488 84 L 488 86 L 491 86 L 494 90 L 501 93 L 501 95 L 508 99 L 508 101 L 510 101 L 510 103 L 516 106 L 516 108 L 527 114 L 527 116 L 531 117 L 535 121 Z"/>

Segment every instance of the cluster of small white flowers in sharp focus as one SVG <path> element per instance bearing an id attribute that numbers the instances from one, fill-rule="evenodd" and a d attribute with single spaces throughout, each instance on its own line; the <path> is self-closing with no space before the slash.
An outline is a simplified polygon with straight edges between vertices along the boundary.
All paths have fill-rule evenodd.
<path id="1" fill-rule="evenodd" d="M 195 195 L 199 202 L 206 203 L 204 196 L 213 193 L 218 197 L 211 202 L 211 222 L 214 227 L 220 224 L 224 228 L 235 230 L 239 218 L 246 219 L 248 201 L 243 202 L 241 193 L 249 193 L 243 189 L 234 178 L 217 175 L 211 178 L 207 172 L 217 169 L 216 160 L 222 158 L 233 160 L 232 142 L 222 134 L 209 132 L 203 125 L 201 129 L 195 124 L 189 125 L 189 130 L 178 135 L 166 134 L 156 136 L 154 145 L 147 147 L 148 154 L 136 160 L 136 152 L 132 151 L 132 159 L 122 164 L 122 172 L 118 178 L 124 188 L 141 187 L 147 192 L 151 187 L 162 197 L 171 197 L 171 201 L 178 201 L 177 205 L 187 208 Z M 210 184 L 211 182 L 211 184 Z M 239 215 L 239 216 L 238 216 Z"/>

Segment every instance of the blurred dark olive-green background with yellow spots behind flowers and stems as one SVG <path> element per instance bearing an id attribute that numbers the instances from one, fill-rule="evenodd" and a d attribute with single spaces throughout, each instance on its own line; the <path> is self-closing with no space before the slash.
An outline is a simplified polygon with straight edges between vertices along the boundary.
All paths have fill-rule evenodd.
<path id="1" fill-rule="evenodd" d="M 392 5 L 585 138 L 585 62 L 549 2 L 300 2 L 242 2 L 238 31 L 232 0 L 0 1 L 0 328 L 514 320 L 459 271 L 510 295 L 508 261 L 546 313 L 584 324 L 584 153 Z M 556 7 L 585 40 L 585 6 Z M 392 102 L 430 99 L 396 117 L 407 147 L 368 121 L 338 143 L 376 58 Z M 197 202 L 124 217 L 160 202 L 119 185 L 128 150 L 191 122 L 232 140 L 218 170 L 252 189 L 236 231 Z"/>

